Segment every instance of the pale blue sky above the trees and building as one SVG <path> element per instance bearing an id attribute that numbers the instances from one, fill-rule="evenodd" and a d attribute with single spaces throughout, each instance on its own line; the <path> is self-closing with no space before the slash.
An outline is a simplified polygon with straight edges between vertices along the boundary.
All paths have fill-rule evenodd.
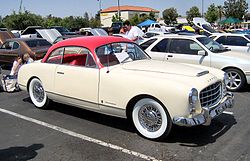
<path id="1" fill-rule="evenodd" d="M 88 12 L 90 16 L 95 14 L 101 8 L 105 9 L 110 6 L 117 6 L 118 0 L 22 0 L 23 7 L 35 14 L 47 16 L 52 14 L 56 17 L 66 16 L 83 16 Z M 224 0 L 120 0 L 120 5 L 133 5 L 150 7 L 159 10 L 160 16 L 162 11 L 174 7 L 178 14 L 185 16 L 186 11 L 192 6 L 202 8 L 202 1 L 204 4 L 204 12 L 206 12 L 209 5 L 224 5 Z M 18 12 L 21 0 L 0 0 L 0 16 L 4 17 L 11 14 L 13 11 Z M 247 0 L 250 5 L 250 0 Z"/>

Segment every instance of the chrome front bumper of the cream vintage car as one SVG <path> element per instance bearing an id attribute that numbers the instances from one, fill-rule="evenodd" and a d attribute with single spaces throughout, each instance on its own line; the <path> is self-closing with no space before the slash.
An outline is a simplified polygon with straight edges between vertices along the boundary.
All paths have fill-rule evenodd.
<path id="1" fill-rule="evenodd" d="M 210 109 L 202 108 L 201 114 L 194 117 L 174 117 L 173 123 L 179 126 L 196 126 L 196 125 L 210 125 L 211 120 L 219 116 L 226 108 L 232 108 L 234 105 L 234 95 L 227 92 L 219 104 Z"/>

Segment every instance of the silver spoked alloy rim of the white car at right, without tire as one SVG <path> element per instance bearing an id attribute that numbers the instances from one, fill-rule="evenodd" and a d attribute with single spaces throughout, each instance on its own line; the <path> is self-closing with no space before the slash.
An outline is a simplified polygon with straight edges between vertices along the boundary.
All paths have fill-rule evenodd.
<path id="1" fill-rule="evenodd" d="M 229 81 L 227 83 L 227 88 L 236 89 L 241 84 L 241 77 L 237 72 L 230 71 L 227 73 Z"/>

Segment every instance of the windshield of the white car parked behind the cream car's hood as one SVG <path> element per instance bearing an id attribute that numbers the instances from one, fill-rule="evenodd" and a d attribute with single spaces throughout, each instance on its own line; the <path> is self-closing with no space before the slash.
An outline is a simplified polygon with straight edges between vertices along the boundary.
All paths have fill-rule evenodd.
<path id="1" fill-rule="evenodd" d="M 229 50 L 209 37 L 199 37 L 199 38 L 197 38 L 197 40 L 200 43 L 202 43 L 207 49 L 209 49 L 210 51 L 215 52 L 215 53 L 224 52 L 224 51 Z"/>

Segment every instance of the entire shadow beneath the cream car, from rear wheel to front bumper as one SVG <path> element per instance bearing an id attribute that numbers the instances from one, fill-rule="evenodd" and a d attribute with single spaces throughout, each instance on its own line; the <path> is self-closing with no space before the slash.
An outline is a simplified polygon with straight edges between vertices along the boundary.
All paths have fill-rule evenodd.
<path id="1" fill-rule="evenodd" d="M 32 104 L 29 97 L 25 98 L 23 101 Z M 49 109 L 105 126 L 137 133 L 132 121 L 128 119 L 104 115 L 55 102 L 50 103 Z M 233 115 L 222 113 L 212 120 L 210 126 L 181 127 L 174 125 L 167 139 L 160 142 L 179 143 L 181 146 L 187 147 L 205 146 L 215 142 L 216 139 L 224 135 L 235 124 L 237 124 L 237 122 Z"/>

